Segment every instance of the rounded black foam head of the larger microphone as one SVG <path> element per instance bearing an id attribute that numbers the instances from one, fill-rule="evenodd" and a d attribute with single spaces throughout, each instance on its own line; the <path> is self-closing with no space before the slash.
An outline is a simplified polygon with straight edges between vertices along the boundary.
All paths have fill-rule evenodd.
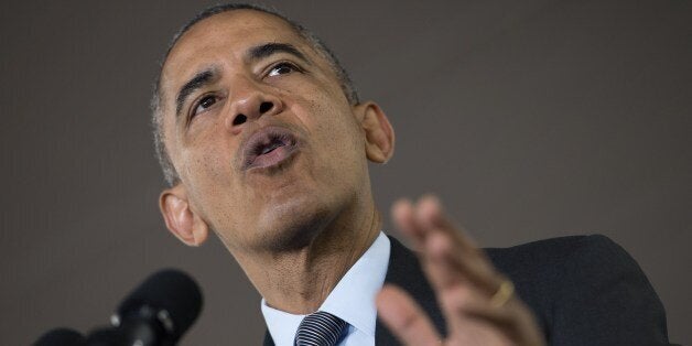
<path id="1" fill-rule="evenodd" d="M 116 318 L 123 323 L 154 311 L 171 340 L 176 342 L 199 315 L 202 303 L 199 286 L 190 275 L 165 269 L 136 288 L 118 306 Z"/>

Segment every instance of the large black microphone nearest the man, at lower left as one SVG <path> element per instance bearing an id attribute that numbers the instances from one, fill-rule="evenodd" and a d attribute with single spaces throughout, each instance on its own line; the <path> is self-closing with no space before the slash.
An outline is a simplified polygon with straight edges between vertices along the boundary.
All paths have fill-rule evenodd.
<path id="1" fill-rule="evenodd" d="M 94 331 L 89 346 L 172 346 L 202 310 L 197 283 L 182 271 L 167 269 L 144 280 L 110 317 L 111 328 Z"/>

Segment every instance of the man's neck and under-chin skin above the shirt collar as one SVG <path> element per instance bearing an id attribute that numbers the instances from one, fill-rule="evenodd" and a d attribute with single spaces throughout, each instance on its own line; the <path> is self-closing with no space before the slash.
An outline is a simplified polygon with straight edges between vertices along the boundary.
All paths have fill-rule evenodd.
<path id="1" fill-rule="evenodd" d="M 296 249 L 231 253 L 269 306 L 313 313 L 379 235 L 380 215 L 365 199 L 302 230 L 314 236 Z"/>

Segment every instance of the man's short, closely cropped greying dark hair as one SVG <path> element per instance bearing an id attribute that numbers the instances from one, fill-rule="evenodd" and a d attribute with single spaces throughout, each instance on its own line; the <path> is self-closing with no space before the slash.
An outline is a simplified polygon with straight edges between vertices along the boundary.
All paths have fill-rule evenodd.
<path id="1" fill-rule="evenodd" d="M 165 61 L 169 58 L 169 55 L 171 54 L 171 50 L 173 50 L 173 47 L 175 46 L 180 37 L 183 36 L 183 34 L 185 34 L 196 23 L 209 17 L 213 17 L 215 14 L 237 11 L 237 10 L 252 10 L 252 11 L 258 11 L 262 13 L 268 13 L 286 22 L 291 26 L 291 29 L 295 31 L 295 33 L 298 33 L 303 40 L 305 40 L 305 42 L 307 42 L 310 46 L 315 52 L 317 52 L 317 54 L 322 55 L 322 57 L 329 64 L 329 66 L 334 71 L 342 86 L 342 89 L 344 90 L 344 94 L 346 95 L 346 99 L 348 99 L 348 101 L 352 105 L 356 105 L 359 102 L 358 93 L 356 91 L 356 88 L 353 82 L 350 80 L 348 73 L 346 72 L 344 66 L 339 63 L 336 55 L 332 52 L 332 50 L 329 50 L 329 47 L 327 47 L 324 41 L 320 40 L 317 35 L 315 35 L 313 32 L 307 30 L 305 26 L 286 18 L 285 15 L 279 13 L 274 9 L 269 9 L 269 8 L 257 6 L 257 4 L 226 3 L 226 4 L 217 4 L 217 6 L 209 7 L 203 10 L 202 12 L 197 13 L 197 15 L 195 15 L 192 20 L 185 23 L 185 25 L 183 25 L 175 33 L 175 35 L 173 35 L 173 40 L 171 40 L 171 42 L 169 43 L 165 54 L 163 55 L 163 58 L 161 60 L 161 63 L 160 63 L 159 73 L 156 74 L 156 77 L 154 79 L 154 86 L 153 86 L 153 93 L 152 93 L 153 95 L 151 98 L 151 113 L 152 113 L 151 125 L 153 128 L 154 149 L 156 153 L 156 159 L 159 160 L 159 163 L 161 164 L 161 169 L 163 171 L 163 177 L 169 186 L 173 186 L 177 184 L 180 182 L 180 175 L 177 174 L 175 166 L 173 166 L 173 163 L 171 162 L 171 156 L 169 155 L 169 152 L 165 148 L 165 142 L 164 142 L 163 115 L 161 112 L 161 72 L 163 69 L 163 65 L 165 64 Z"/>

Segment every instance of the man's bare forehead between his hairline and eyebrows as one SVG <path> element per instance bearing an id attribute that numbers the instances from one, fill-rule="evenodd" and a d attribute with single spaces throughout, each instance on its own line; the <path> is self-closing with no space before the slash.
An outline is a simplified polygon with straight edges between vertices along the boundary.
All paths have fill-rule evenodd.
<path id="1" fill-rule="evenodd" d="M 170 94 L 167 89 L 201 68 L 238 62 L 250 47 L 271 42 L 290 43 L 305 54 L 313 52 L 289 23 L 269 13 L 244 9 L 206 18 L 190 28 L 171 50 L 161 73 L 162 91 Z"/>

